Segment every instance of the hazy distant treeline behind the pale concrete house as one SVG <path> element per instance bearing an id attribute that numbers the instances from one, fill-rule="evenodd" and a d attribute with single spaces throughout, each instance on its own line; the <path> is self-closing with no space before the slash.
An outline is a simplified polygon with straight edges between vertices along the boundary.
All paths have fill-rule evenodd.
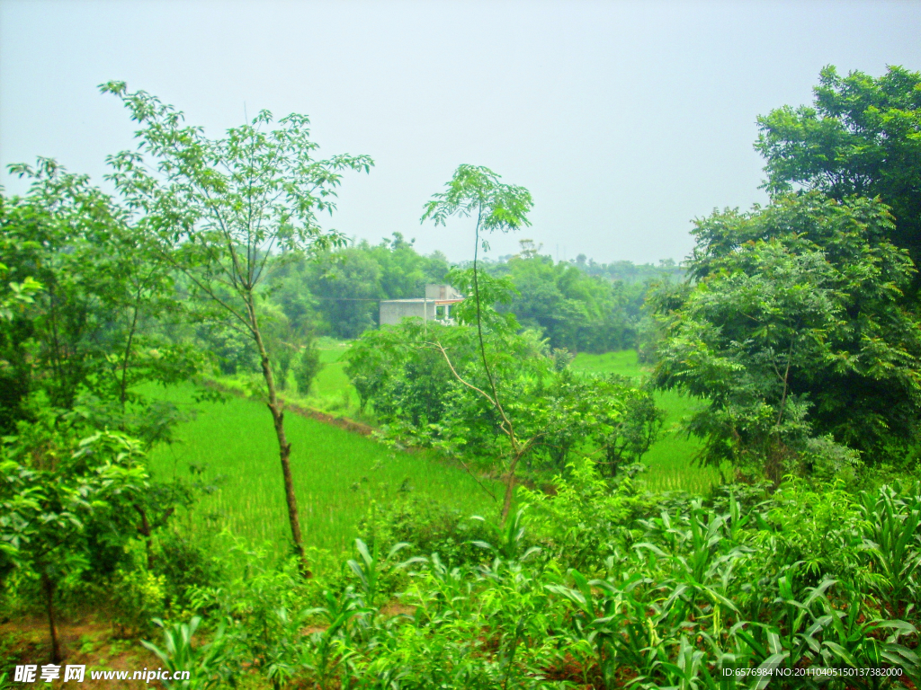
<path id="1" fill-rule="evenodd" d="M 508 308 L 554 348 L 611 351 L 636 347 L 650 285 L 682 280 L 672 259 L 655 264 L 596 263 L 579 255 L 554 261 L 530 240 L 518 254 L 488 261 L 485 270 L 508 276 L 518 290 Z M 378 325 L 379 300 L 425 294 L 426 283 L 446 282 L 449 261 L 424 256 L 400 233 L 378 245 L 362 241 L 291 262 L 275 273 L 272 298 L 294 325 L 317 335 L 352 339 Z"/>

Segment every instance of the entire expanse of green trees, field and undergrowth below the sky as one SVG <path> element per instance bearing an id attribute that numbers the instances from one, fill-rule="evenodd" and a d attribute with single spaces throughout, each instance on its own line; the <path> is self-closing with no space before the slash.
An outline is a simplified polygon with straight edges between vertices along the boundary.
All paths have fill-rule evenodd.
<path id="1" fill-rule="evenodd" d="M 170 687 L 916 687 L 921 75 L 821 80 L 682 268 L 484 261 L 533 200 L 469 165 L 422 221 L 472 263 L 350 244 L 318 217 L 373 161 L 305 116 L 212 140 L 102 86 L 115 193 L 40 160 L 0 199 L 0 687 L 90 612 Z M 456 326 L 376 327 L 428 282 Z M 363 424 L 305 408 L 333 364 Z M 722 481 L 652 490 L 656 452 Z"/>

